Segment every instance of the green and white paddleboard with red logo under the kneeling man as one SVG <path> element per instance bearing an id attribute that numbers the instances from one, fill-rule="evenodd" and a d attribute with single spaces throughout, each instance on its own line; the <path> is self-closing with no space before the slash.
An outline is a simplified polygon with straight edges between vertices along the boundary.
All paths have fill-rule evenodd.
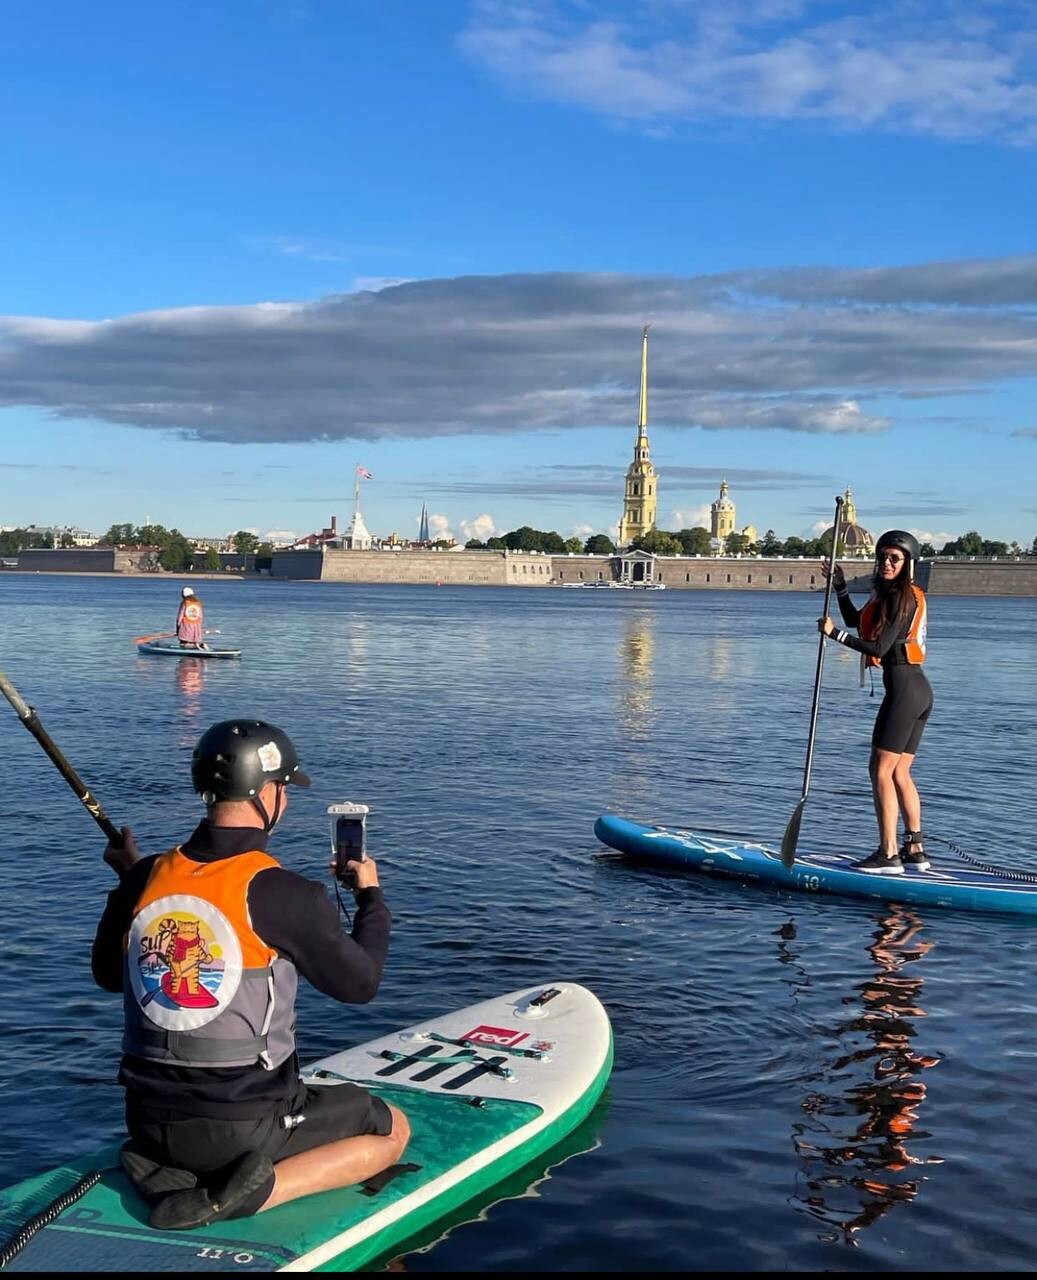
<path id="1" fill-rule="evenodd" d="M 0 1239 L 100 1180 L 36 1231 L 8 1271 L 355 1271 L 453 1215 L 562 1142 L 600 1096 L 612 1030 L 575 983 L 527 987 L 321 1059 L 302 1073 L 362 1084 L 406 1111 L 401 1172 L 195 1231 L 156 1231 L 118 1167 L 118 1147 L 0 1192 Z"/>

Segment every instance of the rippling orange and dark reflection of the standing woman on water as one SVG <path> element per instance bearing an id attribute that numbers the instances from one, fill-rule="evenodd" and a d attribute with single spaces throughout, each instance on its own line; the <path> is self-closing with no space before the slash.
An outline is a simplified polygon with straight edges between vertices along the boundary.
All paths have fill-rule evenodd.
<path id="1" fill-rule="evenodd" d="M 914 1199 L 926 1165 L 942 1164 L 909 1149 L 931 1137 L 918 1126 L 926 1098 L 920 1073 L 940 1059 L 912 1047 L 914 1020 L 926 1016 L 923 978 L 905 970 L 933 943 L 919 936 L 924 924 L 912 910 L 888 906 L 877 922 L 867 948 L 874 973 L 844 997 L 855 1011 L 831 1032 L 844 1052 L 814 1078 L 822 1087 L 804 1100 L 807 1119 L 792 1128 L 807 1187 L 794 1203 L 835 1229 L 822 1240 L 846 1244 L 855 1244 L 856 1234 L 894 1206 Z M 782 954 L 795 927 L 785 925 L 780 934 Z"/>

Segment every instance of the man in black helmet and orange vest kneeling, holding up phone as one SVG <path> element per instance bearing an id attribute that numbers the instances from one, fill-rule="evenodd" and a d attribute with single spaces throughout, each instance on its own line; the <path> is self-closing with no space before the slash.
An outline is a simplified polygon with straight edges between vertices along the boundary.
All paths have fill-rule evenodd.
<path id="1" fill-rule="evenodd" d="M 324 886 L 266 852 L 288 785 L 310 785 L 273 724 L 214 724 L 191 777 L 207 817 L 183 845 L 141 858 L 123 828 L 124 847 L 105 851 L 120 881 L 92 952 L 97 984 L 124 993 L 120 1160 L 163 1229 L 366 1181 L 410 1137 L 403 1112 L 366 1089 L 298 1076 L 298 975 L 343 1004 L 378 992 L 392 916 L 374 860 L 348 864 L 346 933 Z"/>

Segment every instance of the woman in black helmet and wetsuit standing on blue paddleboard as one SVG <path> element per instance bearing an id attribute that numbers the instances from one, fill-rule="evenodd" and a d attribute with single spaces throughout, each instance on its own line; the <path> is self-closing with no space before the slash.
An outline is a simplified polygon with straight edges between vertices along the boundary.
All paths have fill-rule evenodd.
<path id="1" fill-rule="evenodd" d="M 932 687 L 922 669 L 926 660 L 926 593 L 915 585 L 914 566 L 920 554 L 918 539 L 903 529 L 885 532 L 876 545 L 872 598 L 858 612 L 850 600 L 846 577 L 836 564 L 832 585 L 839 612 L 850 635 L 821 618 L 818 630 L 855 649 L 869 667 L 882 668 L 886 696 L 878 708 L 872 733 L 868 772 L 878 818 L 878 847 L 858 863 L 858 870 L 877 876 L 903 876 L 904 868 L 928 870 L 922 844 L 922 803 L 912 778 L 922 732 L 932 710 Z M 828 564 L 822 562 L 827 577 Z M 904 841 L 896 847 L 896 815 L 904 818 Z"/>

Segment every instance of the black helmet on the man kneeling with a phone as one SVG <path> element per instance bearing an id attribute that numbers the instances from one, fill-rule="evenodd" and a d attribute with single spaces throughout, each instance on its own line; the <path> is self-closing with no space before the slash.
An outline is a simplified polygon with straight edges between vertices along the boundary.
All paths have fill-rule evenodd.
<path id="1" fill-rule="evenodd" d="M 191 780 L 206 800 L 251 800 L 268 782 L 310 786 L 288 735 L 247 719 L 220 721 L 202 733 L 191 756 Z"/>

